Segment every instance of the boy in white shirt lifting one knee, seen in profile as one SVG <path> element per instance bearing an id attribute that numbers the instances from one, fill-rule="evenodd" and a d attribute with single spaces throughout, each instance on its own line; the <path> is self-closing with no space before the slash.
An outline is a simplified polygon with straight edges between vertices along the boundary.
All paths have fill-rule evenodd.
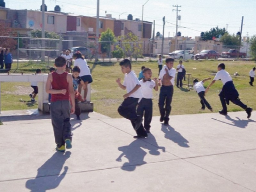
<path id="1" fill-rule="evenodd" d="M 132 71 L 132 64 L 129 59 L 124 59 L 120 62 L 121 70 L 124 73 L 124 83 L 121 84 L 120 78 L 116 80 L 116 83 L 123 90 L 126 89 L 127 93 L 123 95 L 124 101 L 118 107 L 118 113 L 126 119 L 129 119 L 132 123 L 137 135 L 133 136 L 134 139 L 142 139 L 148 136 L 142 125 L 142 117 L 136 113 L 136 107 L 139 99 L 142 98 L 140 82 Z"/>

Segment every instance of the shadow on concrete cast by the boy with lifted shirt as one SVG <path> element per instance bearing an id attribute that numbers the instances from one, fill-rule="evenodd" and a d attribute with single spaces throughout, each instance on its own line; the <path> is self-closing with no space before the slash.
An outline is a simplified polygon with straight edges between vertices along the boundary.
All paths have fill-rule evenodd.
<path id="1" fill-rule="evenodd" d="M 164 137 L 177 143 L 180 147 L 188 148 L 189 141 L 186 140 L 179 132 L 175 131 L 170 125 L 162 124 L 161 131 L 164 132 Z"/>

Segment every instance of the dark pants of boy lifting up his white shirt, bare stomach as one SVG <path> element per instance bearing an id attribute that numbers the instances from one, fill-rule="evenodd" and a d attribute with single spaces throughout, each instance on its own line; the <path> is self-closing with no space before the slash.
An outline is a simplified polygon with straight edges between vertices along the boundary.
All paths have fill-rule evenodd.
<path id="1" fill-rule="evenodd" d="M 164 117 L 164 121 L 169 121 L 169 115 L 171 113 L 172 107 L 172 95 L 173 95 L 173 85 L 165 86 L 162 85 L 160 88 L 158 106 L 160 110 L 160 115 Z M 165 108 L 164 108 L 165 104 Z"/>

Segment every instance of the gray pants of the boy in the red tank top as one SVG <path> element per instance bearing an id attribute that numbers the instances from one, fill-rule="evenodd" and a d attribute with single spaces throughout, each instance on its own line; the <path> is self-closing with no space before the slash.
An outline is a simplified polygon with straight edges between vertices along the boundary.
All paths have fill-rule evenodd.
<path id="1" fill-rule="evenodd" d="M 69 100 L 51 102 L 51 118 L 55 143 L 60 148 L 65 140 L 72 140 Z"/>

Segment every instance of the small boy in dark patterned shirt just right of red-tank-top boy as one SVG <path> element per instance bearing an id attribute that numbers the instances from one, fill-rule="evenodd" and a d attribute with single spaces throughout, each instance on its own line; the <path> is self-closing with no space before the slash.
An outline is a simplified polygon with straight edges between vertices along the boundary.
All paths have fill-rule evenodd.
<path id="1" fill-rule="evenodd" d="M 84 102 L 84 99 L 82 95 L 80 95 L 79 92 L 77 92 L 78 89 L 78 84 L 82 84 L 83 87 L 85 87 L 84 81 L 81 79 L 79 76 L 81 70 L 78 66 L 73 67 L 72 69 L 72 77 L 73 77 L 73 87 L 75 91 L 75 114 L 76 114 L 76 120 L 81 120 L 80 115 L 81 115 L 81 109 L 78 105 L 78 101 Z"/>

